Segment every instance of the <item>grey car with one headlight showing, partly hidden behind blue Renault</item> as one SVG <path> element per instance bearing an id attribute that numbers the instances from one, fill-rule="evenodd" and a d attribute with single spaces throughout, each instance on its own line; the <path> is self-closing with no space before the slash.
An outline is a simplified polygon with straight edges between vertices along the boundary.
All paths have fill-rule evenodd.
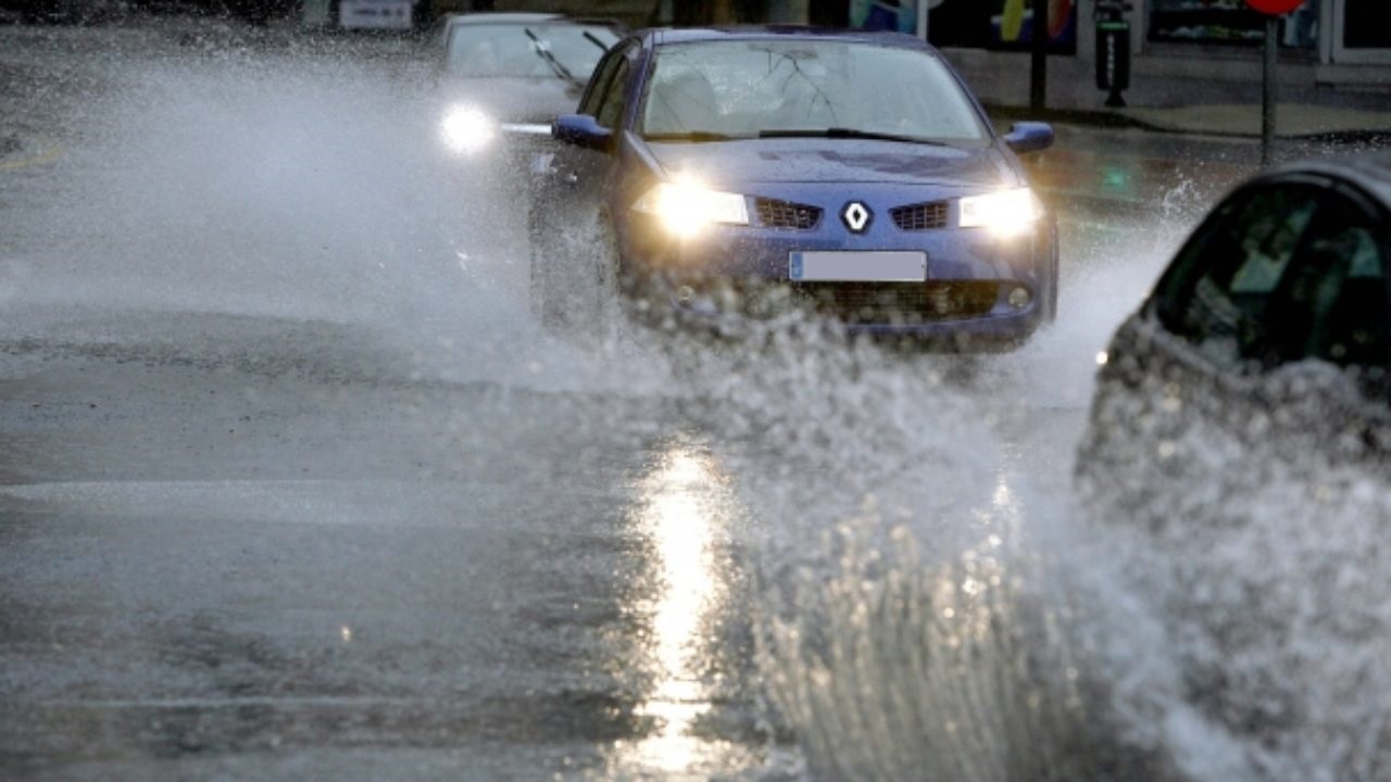
<path id="1" fill-rule="evenodd" d="M 448 106 L 444 143 L 466 159 L 495 160 L 512 143 L 526 163 L 527 136 L 548 141 L 573 111 L 590 72 L 622 32 L 609 19 L 558 14 L 453 14 L 441 21 L 440 82 Z M 508 156 L 501 156 L 508 157 Z"/>

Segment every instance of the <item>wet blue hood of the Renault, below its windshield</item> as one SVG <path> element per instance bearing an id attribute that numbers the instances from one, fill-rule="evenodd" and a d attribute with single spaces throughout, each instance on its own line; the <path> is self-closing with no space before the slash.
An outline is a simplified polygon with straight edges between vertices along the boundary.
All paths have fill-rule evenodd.
<path id="1" fill-rule="evenodd" d="M 711 186 L 766 182 L 1022 184 L 1020 173 L 995 146 L 963 149 L 819 138 L 647 146 L 668 177 L 693 177 Z"/>

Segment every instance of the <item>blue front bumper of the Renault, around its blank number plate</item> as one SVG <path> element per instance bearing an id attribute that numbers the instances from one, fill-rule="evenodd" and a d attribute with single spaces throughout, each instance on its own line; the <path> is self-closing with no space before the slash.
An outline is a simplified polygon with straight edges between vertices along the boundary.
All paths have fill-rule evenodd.
<path id="1" fill-rule="evenodd" d="M 811 230 L 716 225 L 677 241 L 655 218 L 630 213 L 620 234 L 623 270 L 651 305 L 697 324 L 800 308 L 850 333 L 1011 342 L 1053 317 L 1057 245 L 1050 218 L 1010 238 L 979 228 L 901 231 L 892 224 L 855 237 L 825 220 Z M 921 250 L 926 280 L 791 281 L 790 255 L 815 250 Z"/>

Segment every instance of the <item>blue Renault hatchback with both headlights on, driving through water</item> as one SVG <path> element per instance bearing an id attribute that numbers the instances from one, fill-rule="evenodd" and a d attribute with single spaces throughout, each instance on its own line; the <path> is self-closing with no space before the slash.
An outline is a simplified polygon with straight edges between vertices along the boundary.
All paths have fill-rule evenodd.
<path id="1" fill-rule="evenodd" d="M 537 159 L 531 302 L 558 328 L 612 301 L 662 321 L 805 308 L 964 348 L 1057 310 L 1057 230 L 1006 136 L 912 36 L 661 29 L 616 43 Z"/>

